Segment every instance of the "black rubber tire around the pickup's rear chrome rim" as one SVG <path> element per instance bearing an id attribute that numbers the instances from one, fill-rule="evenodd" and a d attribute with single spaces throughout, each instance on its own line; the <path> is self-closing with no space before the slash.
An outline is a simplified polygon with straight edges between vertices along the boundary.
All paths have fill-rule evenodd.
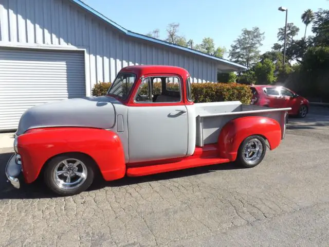
<path id="1" fill-rule="evenodd" d="M 244 152 L 245 149 L 247 148 L 247 145 L 253 142 L 252 140 L 255 140 L 254 142 L 257 143 L 257 145 L 259 145 L 260 149 L 258 152 L 249 151 L 249 154 L 253 153 L 253 155 L 255 155 L 255 160 L 248 161 Z M 244 139 L 244 141 L 241 143 L 239 150 L 237 151 L 236 163 L 241 167 L 252 168 L 257 166 L 263 161 L 265 154 L 266 154 L 265 139 L 260 135 L 251 135 L 248 136 L 246 139 Z"/>

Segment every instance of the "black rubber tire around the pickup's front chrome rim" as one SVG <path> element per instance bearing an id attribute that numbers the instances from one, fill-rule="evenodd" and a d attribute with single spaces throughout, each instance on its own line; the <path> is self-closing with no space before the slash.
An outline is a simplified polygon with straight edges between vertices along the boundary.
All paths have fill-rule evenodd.
<path id="1" fill-rule="evenodd" d="M 83 181 L 80 182 L 80 184 L 78 183 L 75 186 L 72 186 L 72 188 L 64 188 L 64 187 L 60 187 L 59 183 L 62 180 L 56 180 L 55 178 L 55 169 L 58 170 L 59 168 L 57 168 L 59 166 L 59 164 L 63 164 L 63 169 L 60 171 L 64 171 L 64 167 L 66 167 L 63 163 L 63 161 L 66 161 L 67 163 L 72 160 L 78 160 L 80 161 L 84 167 L 82 168 L 82 171 L 86 171 L 84 174 L 86 174 L 83 177 Z M 79 165 L 82 164 L 79 163 Z M 69 165 L 72 163 L 68 163 Z M 80 167 L 79 167 L 80 168 Z M 78 168 L 77 168 L 78 169 Z M 79 172 L 77 171 L 71 171 L 72 176 L 71 177 L 76 177 L 77 180 L 79 180 L 79 178 L 82 178 L 78 175 L 76 175 L 75 172 L 82 174 L 83 172 Z M 45 166 L 44 169 L 44 182 L 47 185 L 47 187 L 54 193 L 56 193 L 59 196 L 72 196 L 72 195 L 76 195 L 82 191 L 85 191 L 90 185 L 92 185 L 93 181 L 94 181 L 94 177 L 95 177 L 95 163 L 94 161 L 89 158 L 86 155 L 83 154 L 76 154 L 76 153 L 72 153 L 72 154 L 63 154 L 63 155 L 59 155 L 56 157 L 53 157 Z M 65 174 L 60 174 L 57 175 L 57 179 L 59 179 L 59 177 L 61 176 L 61 178 L 63 178 L 63 180 L 65 180 Z M 66 177 L 67 178 L 67 177 Z M 63 181 L 62 181 L 63 182 Z M 66 182 L 66 181 L 65 181 Z M 66 185 L 64 185 L 66 186 Z"/>

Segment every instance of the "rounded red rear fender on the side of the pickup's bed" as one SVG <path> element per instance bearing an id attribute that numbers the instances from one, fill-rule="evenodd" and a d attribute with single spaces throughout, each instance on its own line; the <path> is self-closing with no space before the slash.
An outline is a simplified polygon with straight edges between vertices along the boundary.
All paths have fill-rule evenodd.
<path id="1" fill-rule="evenodd" d="M 278 121 L 268 117 L 246 116 L 235 118 L 226 123 L 218 136 L 220 156 L 235 161 L 241 143 L 250 135 L 265 137 L 268 140 L 270 149 L 273 150 L 281 142 L 281 127 Z"/>

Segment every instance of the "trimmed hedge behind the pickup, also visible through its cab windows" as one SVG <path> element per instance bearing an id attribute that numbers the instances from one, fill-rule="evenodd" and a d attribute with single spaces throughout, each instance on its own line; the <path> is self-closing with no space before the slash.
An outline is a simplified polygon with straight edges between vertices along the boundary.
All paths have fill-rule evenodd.
<path id="1" fill-rule="evenodd" d="M 96 84 L 93 88 L 93 95 L 106 95 L 110 86 L 110 82 Z M 173 90 L 177 88 L 177 84 L 170 83 L 169 87 Z M 146 92 L 146 87 L 142 89 L 143 91 Z M 160 92 L 161 84 L 154 83 L 153 93 L 159 94 Z M 238 83 L 192 83 L 192 97 L 195 103 L 240 100 L 244 104 L 249 104 L 252 94 L 248 85 Z"/>

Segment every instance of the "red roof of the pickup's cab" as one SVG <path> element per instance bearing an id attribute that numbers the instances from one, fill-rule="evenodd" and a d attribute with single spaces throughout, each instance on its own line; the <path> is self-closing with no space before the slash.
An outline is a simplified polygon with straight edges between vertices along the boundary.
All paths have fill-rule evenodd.
<path id="1" fill-rule="evenodd" d="M 121 72 L 131 72 L 137 75 L 173 73 L 190 76 L 189 72 L 185 68 L 169 65 L 133 65 L 122 68 Z"/>

